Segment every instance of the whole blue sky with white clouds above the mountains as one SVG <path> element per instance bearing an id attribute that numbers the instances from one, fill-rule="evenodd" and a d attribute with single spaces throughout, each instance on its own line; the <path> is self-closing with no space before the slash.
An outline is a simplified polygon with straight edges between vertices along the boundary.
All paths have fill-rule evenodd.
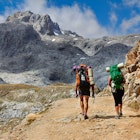
<path id="1" fill-rule="evenodd" d="M 27 10 L 85 38 L 140 33 L 140 0 L 0 0 L 0 23 Z"/>

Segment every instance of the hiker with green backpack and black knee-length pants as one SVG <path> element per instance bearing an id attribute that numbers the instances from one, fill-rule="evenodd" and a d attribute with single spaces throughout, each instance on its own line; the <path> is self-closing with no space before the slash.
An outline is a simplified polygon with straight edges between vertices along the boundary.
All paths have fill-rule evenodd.
<path id="1" fill-rule="evenodd" d="M 115 73 L 118 73 L 118 74 L 114 74 L 114 70 L 112 72 L 111 67 L 110 67 L 110 76 L 108 78 L 108 85 L 111 87 L 111 92 L 113 94 L 114 101 L 115 101 L 115 111 L 116 111 L 115 117 L 119 119 L 123 115 L 122 114 L 122 97 L 124 95 L 125 78 L 121 70 L 117 67 L 117 65 L 114 65 L 113 67 L 114 68 L 116 67 Z M 115 75 L 119 75 L 119 76 L 115 77 Z M 118 79 L 118 83 L 117 83 L 117 79 Z"/>

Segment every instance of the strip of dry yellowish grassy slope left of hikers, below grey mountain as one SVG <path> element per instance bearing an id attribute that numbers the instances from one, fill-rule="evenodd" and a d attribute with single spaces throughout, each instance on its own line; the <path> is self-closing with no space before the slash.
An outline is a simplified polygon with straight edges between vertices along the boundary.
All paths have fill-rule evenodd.
<path id="1" fill-rule="evenodd" d="M 70 90 L 73 85 L 55 83 L 46 87 L 36 87 L 25 84 L 1 84 L 0 97 L 18 102 L 36 102 L 46 103 L 46 101 L 55 101 L 61 98 L 70 97 Z M 49 101 L 50 102 L 50 101 Z"/>

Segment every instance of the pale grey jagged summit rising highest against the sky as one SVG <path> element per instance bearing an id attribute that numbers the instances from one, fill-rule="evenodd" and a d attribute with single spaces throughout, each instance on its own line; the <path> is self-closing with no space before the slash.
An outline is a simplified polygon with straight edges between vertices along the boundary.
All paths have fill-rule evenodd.
<path id="1" fill-rule="evenodd" d="M 34 14 L 30 11 L 17 12 L 6 19 L 6 22 L 22 22 L 32 25 L 41 35 L 59 35 L 62 34 L 59 25 L 53 22 L 49 15 Z"/>

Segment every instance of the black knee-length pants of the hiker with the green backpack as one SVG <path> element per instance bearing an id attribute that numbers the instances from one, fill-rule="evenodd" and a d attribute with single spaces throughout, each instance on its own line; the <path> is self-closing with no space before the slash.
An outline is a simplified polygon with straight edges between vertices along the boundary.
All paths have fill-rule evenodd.
<path id="1" fill-rule="evenodd" d="M 123 90 L 117 90 L 116 92 L 112 93 L 115 101 L 115 106 L 118 106 L 119 104 L 122 105 L 122 97 L 124 95 L 124 89 Z"/>

